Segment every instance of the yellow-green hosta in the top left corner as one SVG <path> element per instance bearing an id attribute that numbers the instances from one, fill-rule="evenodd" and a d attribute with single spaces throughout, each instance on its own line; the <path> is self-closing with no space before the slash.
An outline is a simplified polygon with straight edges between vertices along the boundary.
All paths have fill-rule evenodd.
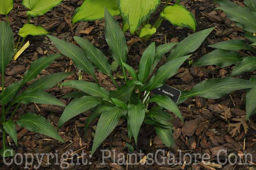
<path id="1" fill-rule="evenodd" d="M 30 24 L 31 17 L 37 17 L 40 15 L 44 15 L 46 12 L 52 10 L 53 7 L 59 5 L 63 0 L 23 0 L 22 4 L 24 7 L 29 9 L 27 11 L 27 15 L 29 16 L 29 19 L 27 20 L 27 23 L 23 25 L 23 27 L 19 30 L 19 36 L 22 37 L 22 41 L 20 43 L 20 37 L 18 39 L 18 42 L 15 46 L 15 52 L 17 52 L 20 48 L 22 48 L 25 38 L 27 35 L 46 35 L 48 34 L 48 31 L 46 31 L 41 26 L 35 26 L 34 24 Z M 8 19 L 8 13 L 13 8 L 13 0 L 1 0 L 0 1 L 0 14 L 5 15 L 7 22 L 9 23 Z M 20 45 L 19 45 L 20 43 Z"/>

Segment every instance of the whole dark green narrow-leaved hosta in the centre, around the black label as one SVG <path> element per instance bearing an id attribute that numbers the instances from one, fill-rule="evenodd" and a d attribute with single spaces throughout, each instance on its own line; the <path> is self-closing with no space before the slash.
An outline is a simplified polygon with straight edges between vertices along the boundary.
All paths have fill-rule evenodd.
<path id="1" fill-rule="evenodd" d="M 155 46 L 153 42 L 144 51 L 138 72 L 130 65 L 126 64 L 128 48 L 122 30 L 118 22 L 113 16 L 105 11 L 105 37 L 108 43 L 112 56 L 120 65 L 121 69 L 126 69 L 131 76 L 127 79 L 124 71 L 123 83 L 118 84 L 114 79 L 111 71 L 111 66 L 108 63 L 107 57 L 101 50 L 94 47 L 86 39 L 75 36 L 75 41 L 78 46 L 48 35 L 56 48 L 65 56 L 71 58 L 78 69 L 91 74 L 95 83 L 83 80 L 70 80 L 61 83 L 60 86 L 68 86 L 76 88 L 79 91 L 67 94 L 68 98 L 73 99 L 65 108 L 59 120 L 59 127 L 71 118 L 83 113 L 89 109 L 93 112 L 85 121 L 85 133 L 90 123 L 99 117 L 97 124 L 92 154 L 100 146 L 100 144 L 108 137 L 108 135 L 117 126 L 120 118 L 127 120 L 127 129 L 129 139 L 132 136 L 135 143 L 138 141 L 138 135 L 142 124 L 152 125 L 163 141 L 170 147 L 173 145 L 172 117 L 169 112 L 173 112 L 177 117 L 183 120 L 180 110 L 176 103 L 169 97 L 154 95 L 149 97 L 150 92 L 158 87 L 161 87 L 167 79 L 176 74 L 180 66 L 188 59 L 188 53 L 194 52 L 204 41 L 207 35 L 213 28 L 199 31 L 195 34 L 182 40 L 179 44 L 170 43 L 160 46 Z M 151 77 L 157 63 L 162 56 L 177 45 L 167 58 L 167 62 L 162 65 L 154 76 Z M 95 78 L 94 65 L 98 71 L 109 75 L 115 84 L 116 91 L 107 91 L 100 87 L 100 83 Z M 195 95 L 219 98 L 226 93 L 242 88 L 252 88 L 255 83 L 247 80 L 231 78 L 233 84 L 227 84 L 227 79 L 210 79 L 197 84 L 191 91 L 183 95 L 182 100 Z M 147 108 L 148 103 L 153 103 L 154 106 Z M 151 106 L 151 105 L 150 105 Z"/>

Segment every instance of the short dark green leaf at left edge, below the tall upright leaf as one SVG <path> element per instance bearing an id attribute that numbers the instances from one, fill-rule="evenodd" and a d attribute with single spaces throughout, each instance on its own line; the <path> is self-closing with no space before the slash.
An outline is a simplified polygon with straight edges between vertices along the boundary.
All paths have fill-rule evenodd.
<path id="1" fill-rule="evenodd" d="M 15 83 L 10 84 L 8 87 L 5 88 L 4 92 L 0 94 L 0 104 L 5 105 L 11 101 L 11 99 L 15 96 L 18 92 L 20 84 L 22 81 L 18 81 Z"/>

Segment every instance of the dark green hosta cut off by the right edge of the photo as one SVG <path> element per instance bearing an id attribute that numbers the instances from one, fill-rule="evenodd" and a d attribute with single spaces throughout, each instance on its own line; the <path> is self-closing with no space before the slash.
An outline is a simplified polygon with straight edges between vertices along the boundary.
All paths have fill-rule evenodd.
<path id="1" fill-rule="evenodd" d="M 247 7 L 240 7 L 229 0 L 217 1 L 221 6 L 217 10 L 226 13 L 229 19 L 233 20 L 238 27 L 244 30 L 246 40 L 231 39 L 217 44 L 209 45 L 215 48 L 212 52 L 206 54 L 194 66 L 217 65 L 218 67 L 227 67 L 235 65 L 229 76 L 238 76 L 242 73 L 253 72 L 256 70 L 256 1 L 244 0 Z M 239 50 L 245 50 L 245 53 L 239 53 Z M 246 55 L 245 55 L 246 54 Z M 251 77 L 250 81 L 255 82 L 256 78 Z M 256 113 L 256 87 L 248 90 L 246 93 L 246 118 Z"/>

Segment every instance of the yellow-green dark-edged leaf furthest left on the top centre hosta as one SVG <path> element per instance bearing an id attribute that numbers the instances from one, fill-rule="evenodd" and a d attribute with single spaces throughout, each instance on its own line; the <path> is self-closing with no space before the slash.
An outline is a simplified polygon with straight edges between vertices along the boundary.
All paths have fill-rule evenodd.
<path id="1" fill-rule="evenodd" d="M 76 8 L 72 22 L 102 19 L 105 8 L 113 16 L 120 14 L 117 0 L 84 0 L 82 6 Z"/>

